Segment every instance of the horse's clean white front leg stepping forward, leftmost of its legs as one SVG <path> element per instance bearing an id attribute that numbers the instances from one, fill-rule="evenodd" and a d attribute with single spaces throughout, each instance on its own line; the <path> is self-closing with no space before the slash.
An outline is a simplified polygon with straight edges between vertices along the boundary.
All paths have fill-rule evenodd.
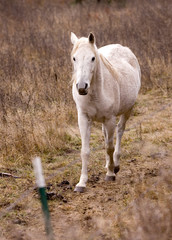
<path id="1" fill-rule="evenodd" d="M 91 121 L 88 119 L 88 117 L 78 112 L 78 124 L 79 124 L 79 130 L 81 134 L 81 140 L 82 140 L 82 148 L 81 148 L 81 159 L 82 159 L 82 170 L 81 170 L 81 176 L 80 181 L 75 187 L 75 192 L 83 192 L 86 183 L 88 180 L 88 171 L 87 171 L 87 165 L 88 165 L 88 159 L 90 155 L 90 128 L 91 128 Z"/>

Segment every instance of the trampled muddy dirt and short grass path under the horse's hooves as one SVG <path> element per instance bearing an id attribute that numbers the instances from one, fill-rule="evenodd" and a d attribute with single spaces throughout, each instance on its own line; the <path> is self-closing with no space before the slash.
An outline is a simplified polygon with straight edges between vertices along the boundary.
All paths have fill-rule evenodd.
<path id="1" fill-rule="evenodd" d="M 55 239 L 120 239 L 126 224 L 131 224 L 129 211 L 137 200 L 145 198 L 159 201 L 162 171 L 171 167 L 171 112 L 171 98 L 155 91 L 140 94 L 122 140 L 121 169 L 115 182 L 104 180 L 105 149 L 101 126 L 97 124 L 92 129 L 89 181 L 84 193 L 73 191 L 81 168 L 78 151 L 58 158 L 54 156 L 52 162 L 44 164 L 44 172 L 48 177 L 56 173 L 56 167 L 66 166 L 76 160 L 75 164 L 47 180 Z M 23 189 L 21 192 L 24 192 L 28 186 L 32 187 L 34 178 L 25 182 L 23 188 L 22 179 L 8 178 L 3 181 L 13 181 L 14 186 L 20 184 Z M 15 187 L 11 191 L 15 192 Z M 17 198 L 14 197 L 11 203 Z M 3 206 L 0 212 L 8 206 Z M 1 218 L 0 230 L 2 240 L 46 239 L 36 190 Z"/>

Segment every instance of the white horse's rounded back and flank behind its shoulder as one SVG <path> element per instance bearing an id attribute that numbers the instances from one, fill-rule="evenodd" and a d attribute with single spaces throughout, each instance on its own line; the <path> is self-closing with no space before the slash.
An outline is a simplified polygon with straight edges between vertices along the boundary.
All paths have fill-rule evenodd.
<path id="1" fill-rule="evenodd" d="M 141 73 L 138 60 L 128 47 L 123 47 L 120 44 L 107 45 L 99 48 L 98 51 L 111 63 L 118 74 L 119 114 L 121 114 L 134 105 L 140 89 Z"/>

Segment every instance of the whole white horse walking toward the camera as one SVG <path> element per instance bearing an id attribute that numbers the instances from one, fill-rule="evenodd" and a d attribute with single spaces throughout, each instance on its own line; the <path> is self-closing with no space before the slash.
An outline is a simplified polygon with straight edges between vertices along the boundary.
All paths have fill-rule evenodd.
<path id="1" fill-rule="evenodd" d="M 119 171 L 121 138 L 140 89 L 141 72 L 137 58 L 127 47 L 111 44 L 97 49 L 92 33 L 88 38 L 80 39 L 71 33 L 71 42 L 74 45 L 71 53 L 72 93 L 82 139 L 82 171 L 74 191 L 83 192 L 88 180 L 92 121 L 103 124 L 107 168 L 105 180 L 115 180 L 115 174 Z M 116 116 L 119 115 L 114 150 Z"/>

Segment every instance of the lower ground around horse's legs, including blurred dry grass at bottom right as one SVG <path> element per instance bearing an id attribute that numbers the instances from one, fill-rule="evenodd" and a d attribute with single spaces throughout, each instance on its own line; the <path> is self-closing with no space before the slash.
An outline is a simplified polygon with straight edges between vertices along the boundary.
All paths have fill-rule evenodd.
<path id="1" fill-rule="evenodd" d="M 77 128 L 70 153 L 44 155 L 55 239 L 171 239 L 171 110 L 171 99 L 157 91 L 140 94 L 123 138 L 121 171 L 114 183 L 104 181 L 103 136 L 101 126 L 94 125 L 84 194 L 73 192 L 81 169 Z M 1 238 L 44 239 L 32 167 L 2 169 L 21 178 L 1 180 L 1 213 L 15 203 L 1 219 Z"/>

